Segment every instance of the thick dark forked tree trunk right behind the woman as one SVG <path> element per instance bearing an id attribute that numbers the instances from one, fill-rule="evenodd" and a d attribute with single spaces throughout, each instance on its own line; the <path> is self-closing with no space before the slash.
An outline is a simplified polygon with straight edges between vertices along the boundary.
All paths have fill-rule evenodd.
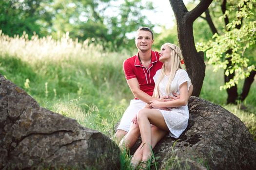
<path id="1" fill-rule="evenodd" d="M 203 52 L 197 52 L 193 35 L 193 22 L 211 4 L 212 0 L 201 0 L 198 5 L 188 11 L 182 0 L 170 0 L 177 22 L 178 43 L 184 57 L 187 72 L 194 90 L 192 95 L 199 96 L 205 76 Z"/>

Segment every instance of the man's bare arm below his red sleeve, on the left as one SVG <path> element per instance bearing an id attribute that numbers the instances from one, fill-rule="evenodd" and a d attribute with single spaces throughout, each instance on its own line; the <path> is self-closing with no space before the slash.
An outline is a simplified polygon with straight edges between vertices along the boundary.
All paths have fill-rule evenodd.
<path id="1" fill-rule="evenodd" d="M 137 78 L 127 80 L 127 84 L 129 85 L 134 97 L 138 98 L 139 100 L 146 103 L 156 100 L 154 97 L 149 96 L 147 93 L 140 90 Z"/>

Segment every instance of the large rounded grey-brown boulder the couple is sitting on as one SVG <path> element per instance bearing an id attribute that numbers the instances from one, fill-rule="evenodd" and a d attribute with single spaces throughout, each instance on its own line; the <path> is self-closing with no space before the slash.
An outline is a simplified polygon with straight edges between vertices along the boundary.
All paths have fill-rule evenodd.
<path id="1" fill-rule="evenodd" d="M 190 166 L 193 170 L 255 170 L 256 142 L 240 119 L 221 106 L 194 96 L 189 99 L 189 112 L 185 132 L 178 139 L 164 137 L 153 149 L 158 169 L 176 163 L 179 165 L 167 169 Z M 139 142 L 131 153 L 138 145 Z"/>

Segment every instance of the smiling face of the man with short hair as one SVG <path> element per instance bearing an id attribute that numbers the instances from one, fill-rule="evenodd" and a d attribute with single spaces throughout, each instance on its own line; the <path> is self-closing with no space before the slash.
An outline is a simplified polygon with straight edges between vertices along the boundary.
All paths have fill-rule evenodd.
<path id="1" fill-rule="evenodd" d="M 135 44 L 138 51 L 149 51 L 151 50 L 154 40 L 152 39 L 152 34 L 149 31 L 139 31 L 135 37 Z"/>

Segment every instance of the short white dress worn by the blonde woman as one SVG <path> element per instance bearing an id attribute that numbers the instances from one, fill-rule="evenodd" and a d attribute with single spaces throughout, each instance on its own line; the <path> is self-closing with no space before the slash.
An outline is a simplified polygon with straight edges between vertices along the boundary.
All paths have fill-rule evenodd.
<path id="1" fill-rule="evenodd" d="M 160 72 L 161 72 L 161 69 L 159 69 L 156 72 L 156 75 L 153 77 L 155 83 L 159 78 Z M 169 78 L 168 76 L 164 75 L 162 81 L 159 84 L 160 97 L 164 97 L 167 95 L 172 96 L 172 93 L 166 94 L 166 85 L 168 82 L 168 78 Z M 176 71 L 175 77 L 171 84 L 171 89 L 175 89 L 174 92 L 179 94 L 179 86 L 184 82 L 187 82 L 188 89 L 189 89 L 189 86 L 191 85 L 191 80 L 188 76 L 188 73 L 183 69 L 178 69 Z M 188 105 L 175 107 L 171 109 L 172 109 L 171 111 L 161 110 L 161 109 L 158 109 L 158 110 L 162 113 L 165 123 L 170 130 L 169 135 L 172 137 L 178 138 L 188 126 L 188 119 L 189 119 Z"/>

